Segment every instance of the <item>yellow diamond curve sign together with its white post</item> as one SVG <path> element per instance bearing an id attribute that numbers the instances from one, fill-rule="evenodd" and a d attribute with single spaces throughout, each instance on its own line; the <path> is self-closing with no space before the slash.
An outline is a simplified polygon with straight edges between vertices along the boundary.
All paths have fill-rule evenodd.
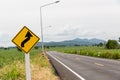
<path id="1" fill-rule="evenodd" d="M 25 54 L 25 66 L 26 66 L 26 80 L 31 80 L 30 74 L 30 56 L 29 51 L 39 41 L 39 37 L 36 36 L 30 29 L 24 26 L 18 34 L 12 39 L 12 42 L 18 46 Z"/>

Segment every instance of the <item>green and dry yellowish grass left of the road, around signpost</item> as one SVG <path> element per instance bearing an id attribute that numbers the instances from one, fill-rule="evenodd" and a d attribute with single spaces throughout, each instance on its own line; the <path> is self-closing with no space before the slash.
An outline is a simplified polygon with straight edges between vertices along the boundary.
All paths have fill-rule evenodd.
<path id="1" fill-rule="evenodd" d="M 24 53 L 16 48 L 0 49 L 0 80 L 25 80 Z M 59 80 L 46 56 L 40 49 L 30 52 L 30 67 L 32 80 Z"/>

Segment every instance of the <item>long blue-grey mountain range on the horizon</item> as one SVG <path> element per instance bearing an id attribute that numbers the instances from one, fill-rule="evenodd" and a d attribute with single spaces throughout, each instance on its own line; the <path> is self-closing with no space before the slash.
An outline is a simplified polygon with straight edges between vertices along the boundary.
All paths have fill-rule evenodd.
<path id="1" fill-rule="evenodd" d="M 80 39 L 76 38 L 73 40 L 65 40 L 60 42 L 44 42 L 45 46 L 74 46 L 74 45 L 95 45 L 99 43 L 105 43 L 105 40 L 101 39 Z M 41 46 L 41 42 L 37 44 L 37 46 Z"/>

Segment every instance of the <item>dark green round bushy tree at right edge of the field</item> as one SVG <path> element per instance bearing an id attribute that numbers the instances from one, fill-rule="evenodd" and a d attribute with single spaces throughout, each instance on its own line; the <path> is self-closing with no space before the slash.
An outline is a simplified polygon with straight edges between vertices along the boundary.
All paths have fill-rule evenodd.
<path id="1" fill-rule="evenodd" d="M 106 43 L 107 49 L 117 49 L 119 47 L 119 44 L 116 40 L 108 40 Z"/>

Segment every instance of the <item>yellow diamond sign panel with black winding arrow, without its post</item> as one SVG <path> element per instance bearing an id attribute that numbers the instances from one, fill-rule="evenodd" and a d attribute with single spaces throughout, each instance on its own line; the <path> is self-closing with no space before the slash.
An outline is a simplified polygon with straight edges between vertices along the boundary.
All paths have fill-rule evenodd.
<path id="1" fill-rule="evenodd" d="M 12 39 L 12 42 L 25 53 L 28 53 L 38 41 L 39 37 L 30 31 L 26 26 L 24 26 Z"/>

